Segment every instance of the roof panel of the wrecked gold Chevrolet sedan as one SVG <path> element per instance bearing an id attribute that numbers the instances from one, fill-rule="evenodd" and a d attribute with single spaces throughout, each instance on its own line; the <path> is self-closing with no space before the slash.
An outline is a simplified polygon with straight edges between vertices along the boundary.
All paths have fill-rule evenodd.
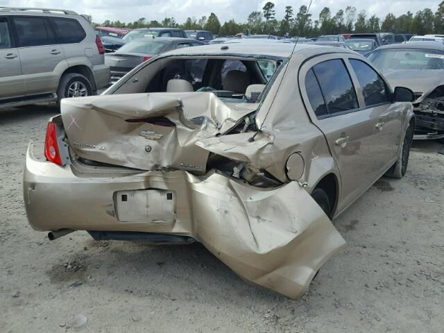
<path id="1" fill-rule="evenodd" d="M 293 43 L 275 43 L 273 47 L 270 44 L 257 42 L 257 43 L 234 43 L 234 44 L 210 44 L 203 46 L 187 47 L 185 49 L 176 49 L 164 53 L 168 56 L 180 55 L 180 56 L 221 56 L 226 54 L 227 56 L 264 56 L 273 58 L 289 58 L 291 54 L 307 49 L 318 49 L 319 53 L 331 53 L 333 48 L 331 46 L 319 46 L 303 43 L 303 44 L 293 44 Z M 337 49 L 337 50 L 336 50 Z M 355 52 L 336 48 L 338 53 L 352 53 Z M 186 53 L 186 54 L 184 54 Z"/>

